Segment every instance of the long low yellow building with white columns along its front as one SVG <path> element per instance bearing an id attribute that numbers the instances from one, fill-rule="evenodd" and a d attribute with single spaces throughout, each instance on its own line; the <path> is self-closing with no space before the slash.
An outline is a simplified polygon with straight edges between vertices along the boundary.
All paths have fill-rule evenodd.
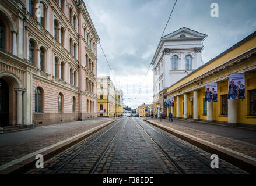
<path id="1" fill-rule="evenodd" d="M 245 74 L 245 99 L 227 99 L 230 74 Z M 205 84 L 217 83 L 218 101 L 205 102 Z M 174 117 L 256 127 L 256 31 L 167 88 Z"/>

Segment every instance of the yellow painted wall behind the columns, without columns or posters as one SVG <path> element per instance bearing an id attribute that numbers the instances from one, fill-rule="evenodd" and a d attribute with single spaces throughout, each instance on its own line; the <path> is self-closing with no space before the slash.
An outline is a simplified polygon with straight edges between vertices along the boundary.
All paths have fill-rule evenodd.
<path id="1" fill-rule="evenodd" d="M 184 92 L 187 94 L 188 98 L 188 116 L 193 116 L 193 103 L 190 101 L 193 96 L 193 90 L 198 91 L 198 115 L 199 119 L 206 120 L 207 115 L 204 114 L 203 109 L 203 99 L 205 98 L 205 83 L 210 83 L 213 81 L 218 82 L 218 102 L 213 102 L 213 120 L 220 123 L 227 123 L 228 116 L 221 115 L 222 113 L 222 95 L 226 95 L 228 92 L 228 81 L 229 74 L 232 73 L 241 73 L 240 70 L 244 70 L 245 73 L 245 91 L 246 98 L 245 99 L 237 99 L 237 123 L 241 124 L 256 124 L 256 116 L 248 116 L 250 114 L 250 95 L 249 91 L 256 89 L 256 66 L 255 66 L 255 56 L 250 57 L 248 59 L 239 60 L 237 59 L 237 63 L 235 65 L 229 66 L 226 69 L 218 69 L 222 63 L 229 61 L 230 59 L 236 60 L 236 57 L 241 53 L 247 51 L 250 48 L 256 47 L 256 37 L 252 36 L 248 38 L 247 41 L 239 44 L 238 46 L 231 49 L 229 52 L 220 56 L 218 59 L 213 60 L 208 65 L 205 65 L 198 71 L 195 71 L 194 74 L 190 74 L 185 77 L 183 80 L 178 83 L 172 85 L 167 89 L 167 97 L 174 96 L 174 117 L 177 116 L 176 112 L 176 104 L 180 105 L 180 117 L 184 117 L 183 115 L 183 102 L 184 102 Z M 231 63 L 231 62 L 228 62 Z M 203 78 L 201 80 L 197 80 L 194 83 L 188 85 L 189 82 L 194 80 L 195 78 L 201 76 L 202 74 L 207 73 L 208 71 L 214 69 L 216 67 L 216 71 L 213 71 L 213 74 L 210 76 Z M 247 70 L 248 69 L 248 70 Z M 180 96 L 180 103 L 177 103 L 177 95 Z"/>

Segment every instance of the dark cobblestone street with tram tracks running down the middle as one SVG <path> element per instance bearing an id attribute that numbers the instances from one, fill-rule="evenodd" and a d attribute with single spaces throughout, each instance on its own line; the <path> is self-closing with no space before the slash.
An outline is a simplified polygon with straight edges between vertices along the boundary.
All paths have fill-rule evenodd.
<path id="1" fill-rule="evenodd" d="M 145 121 L 128 117 L 94 133 L 26 174 L 247 174 Z"/>

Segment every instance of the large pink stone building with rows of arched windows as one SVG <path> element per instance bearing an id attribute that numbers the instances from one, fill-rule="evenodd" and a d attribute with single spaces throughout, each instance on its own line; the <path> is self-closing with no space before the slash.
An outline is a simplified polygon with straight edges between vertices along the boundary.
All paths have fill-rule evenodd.
<path id="1" fill-rule="evenodd" d="M 96 118 L 98 41 L 83 1 L 1 1 L 1 127 Z"/>

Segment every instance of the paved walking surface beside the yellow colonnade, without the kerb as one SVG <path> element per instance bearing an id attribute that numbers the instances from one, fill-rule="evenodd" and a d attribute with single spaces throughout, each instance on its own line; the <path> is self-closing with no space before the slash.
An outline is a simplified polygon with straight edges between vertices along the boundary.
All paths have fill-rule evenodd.
<path id="1" fill-rule="evenodd" d="M 148 120 L 256 158 L 255 130 L 178 120 L 170 123 L 169 119 L 163 119 L 162 122 L 160 119 Z"/>

